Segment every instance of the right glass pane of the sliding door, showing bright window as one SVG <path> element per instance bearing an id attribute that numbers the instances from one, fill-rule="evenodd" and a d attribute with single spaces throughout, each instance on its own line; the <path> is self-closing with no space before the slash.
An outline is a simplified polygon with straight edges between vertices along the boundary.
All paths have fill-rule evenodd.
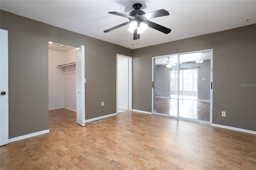
<path id="1" fill-rule="evenodd" d="M 179 117 L 210 121 L 210 53 L 182 54 L 179 61 Z"/>

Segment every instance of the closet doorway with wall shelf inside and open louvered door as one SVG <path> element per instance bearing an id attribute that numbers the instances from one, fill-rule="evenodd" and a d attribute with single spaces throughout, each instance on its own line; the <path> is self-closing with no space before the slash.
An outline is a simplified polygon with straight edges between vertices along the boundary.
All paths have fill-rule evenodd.
<path id="1" fill-rule="evenodd" d="M 48 42 L 48 110 L 72 111 L 84 126 L 84 80 L 84 46 Z"/>

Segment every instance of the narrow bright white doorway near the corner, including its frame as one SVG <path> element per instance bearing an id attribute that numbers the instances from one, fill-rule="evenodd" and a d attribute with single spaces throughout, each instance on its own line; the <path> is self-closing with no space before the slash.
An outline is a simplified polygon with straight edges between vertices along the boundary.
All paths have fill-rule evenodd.
<path id="1" fill-rule="evenodd" d="M 116 55 L 116 113 L 132 110 L 132 57 Z"/>

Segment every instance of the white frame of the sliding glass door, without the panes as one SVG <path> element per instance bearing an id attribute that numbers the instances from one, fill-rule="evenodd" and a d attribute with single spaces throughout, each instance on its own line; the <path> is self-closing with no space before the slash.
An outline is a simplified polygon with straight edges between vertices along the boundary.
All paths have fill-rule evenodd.
<path id="1" fill-rule="evenodd" d="M 190 119 L 190 118 L 183 118 L 183 117 L 179 117 L 179 86 L 180 86 L 180 82 L 178 79 L 178 84 L 177 84 L 177 90 L 178 90 L 178 94 L 177 94 L 177 116 L 171 116 L 171 115 L 164 115 L 161 113 L 154 113 L 154 98 L 155 98 L 155 93 L 154 93 L 154 67 L 155 67 L 155 62 L 154 59 L 156 58 L 161 58 L 161 57 L 169 57 L 171 55 L 177 55 L 177 67 L 180 67 L 180 55 L 182 54 L 188 54 L 188 53 L 198 53 L 198 52 L 205 52 L 205 51 L 209 51 L 210 52 L 210 122 L 207 121 L 200 121 L 197 119 Z M 197 122 L 197 123 L 204 123 L 204 124 L 208 124 L 211 125 L 212 124 L 212 94 L 213 94 L 213 48 L 211 49 L 202 49 L 202 50 L 197 50 L 197 51 L 189 51 L 189 52 L 184 52 L 184 53 L 175 53 L 175 54 L 169 54 L 169 55 L 161 55 L 161 56 L 155 56 L 152 57 L 152 95 L 151 95 L 151 105 L 152 105 L 152 109 L 151 109 L 151 113 L 154 115 L 161 115 L 164 117 L 172 117 L 175 119 L 182 119 L 182 120 L 186 120 L 186 121 L 192 121 L 192 122 Z M 179 75 L 180 69 L 177 69 L 177 73 Z"/>

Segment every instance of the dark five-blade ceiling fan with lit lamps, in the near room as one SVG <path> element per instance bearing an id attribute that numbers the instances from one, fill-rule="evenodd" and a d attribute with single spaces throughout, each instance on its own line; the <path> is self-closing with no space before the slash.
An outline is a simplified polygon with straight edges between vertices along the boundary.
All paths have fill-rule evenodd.
<path id="1" fill-rule="evenodd" d="M 168 11 L 161 9 L 161 10 L 156 10 L 146 14 L 144 11 L 140 10 L 141 7 L 142 7 L 142 4 L 140 3 L 133 4 L 132 8 L 134 8 L 134 10 L 130 12 L 129 15 L 122 14 L 119 12 L 108 12 L 108 14 L 126 17 L 130 21 L 120 24 L 118 26 L 115 26 L 113 28 L 110 28 L 108 30 L 105 30 L 104 32 L 110 32 L 128 24 L 130 24 L 130 28 L 128 30 L 130 32 L 133 32 L 133 40 L 138 40 L 140 38 L 140 34 L 144 32 L 147 29 L 147 27 L 154 28 L 155 30 L 158 30 L 165 34 L 168 34 L 171 32 L 171 29 L 158 25 L 148 20 L 150 18 L 170 15 Z"/>

